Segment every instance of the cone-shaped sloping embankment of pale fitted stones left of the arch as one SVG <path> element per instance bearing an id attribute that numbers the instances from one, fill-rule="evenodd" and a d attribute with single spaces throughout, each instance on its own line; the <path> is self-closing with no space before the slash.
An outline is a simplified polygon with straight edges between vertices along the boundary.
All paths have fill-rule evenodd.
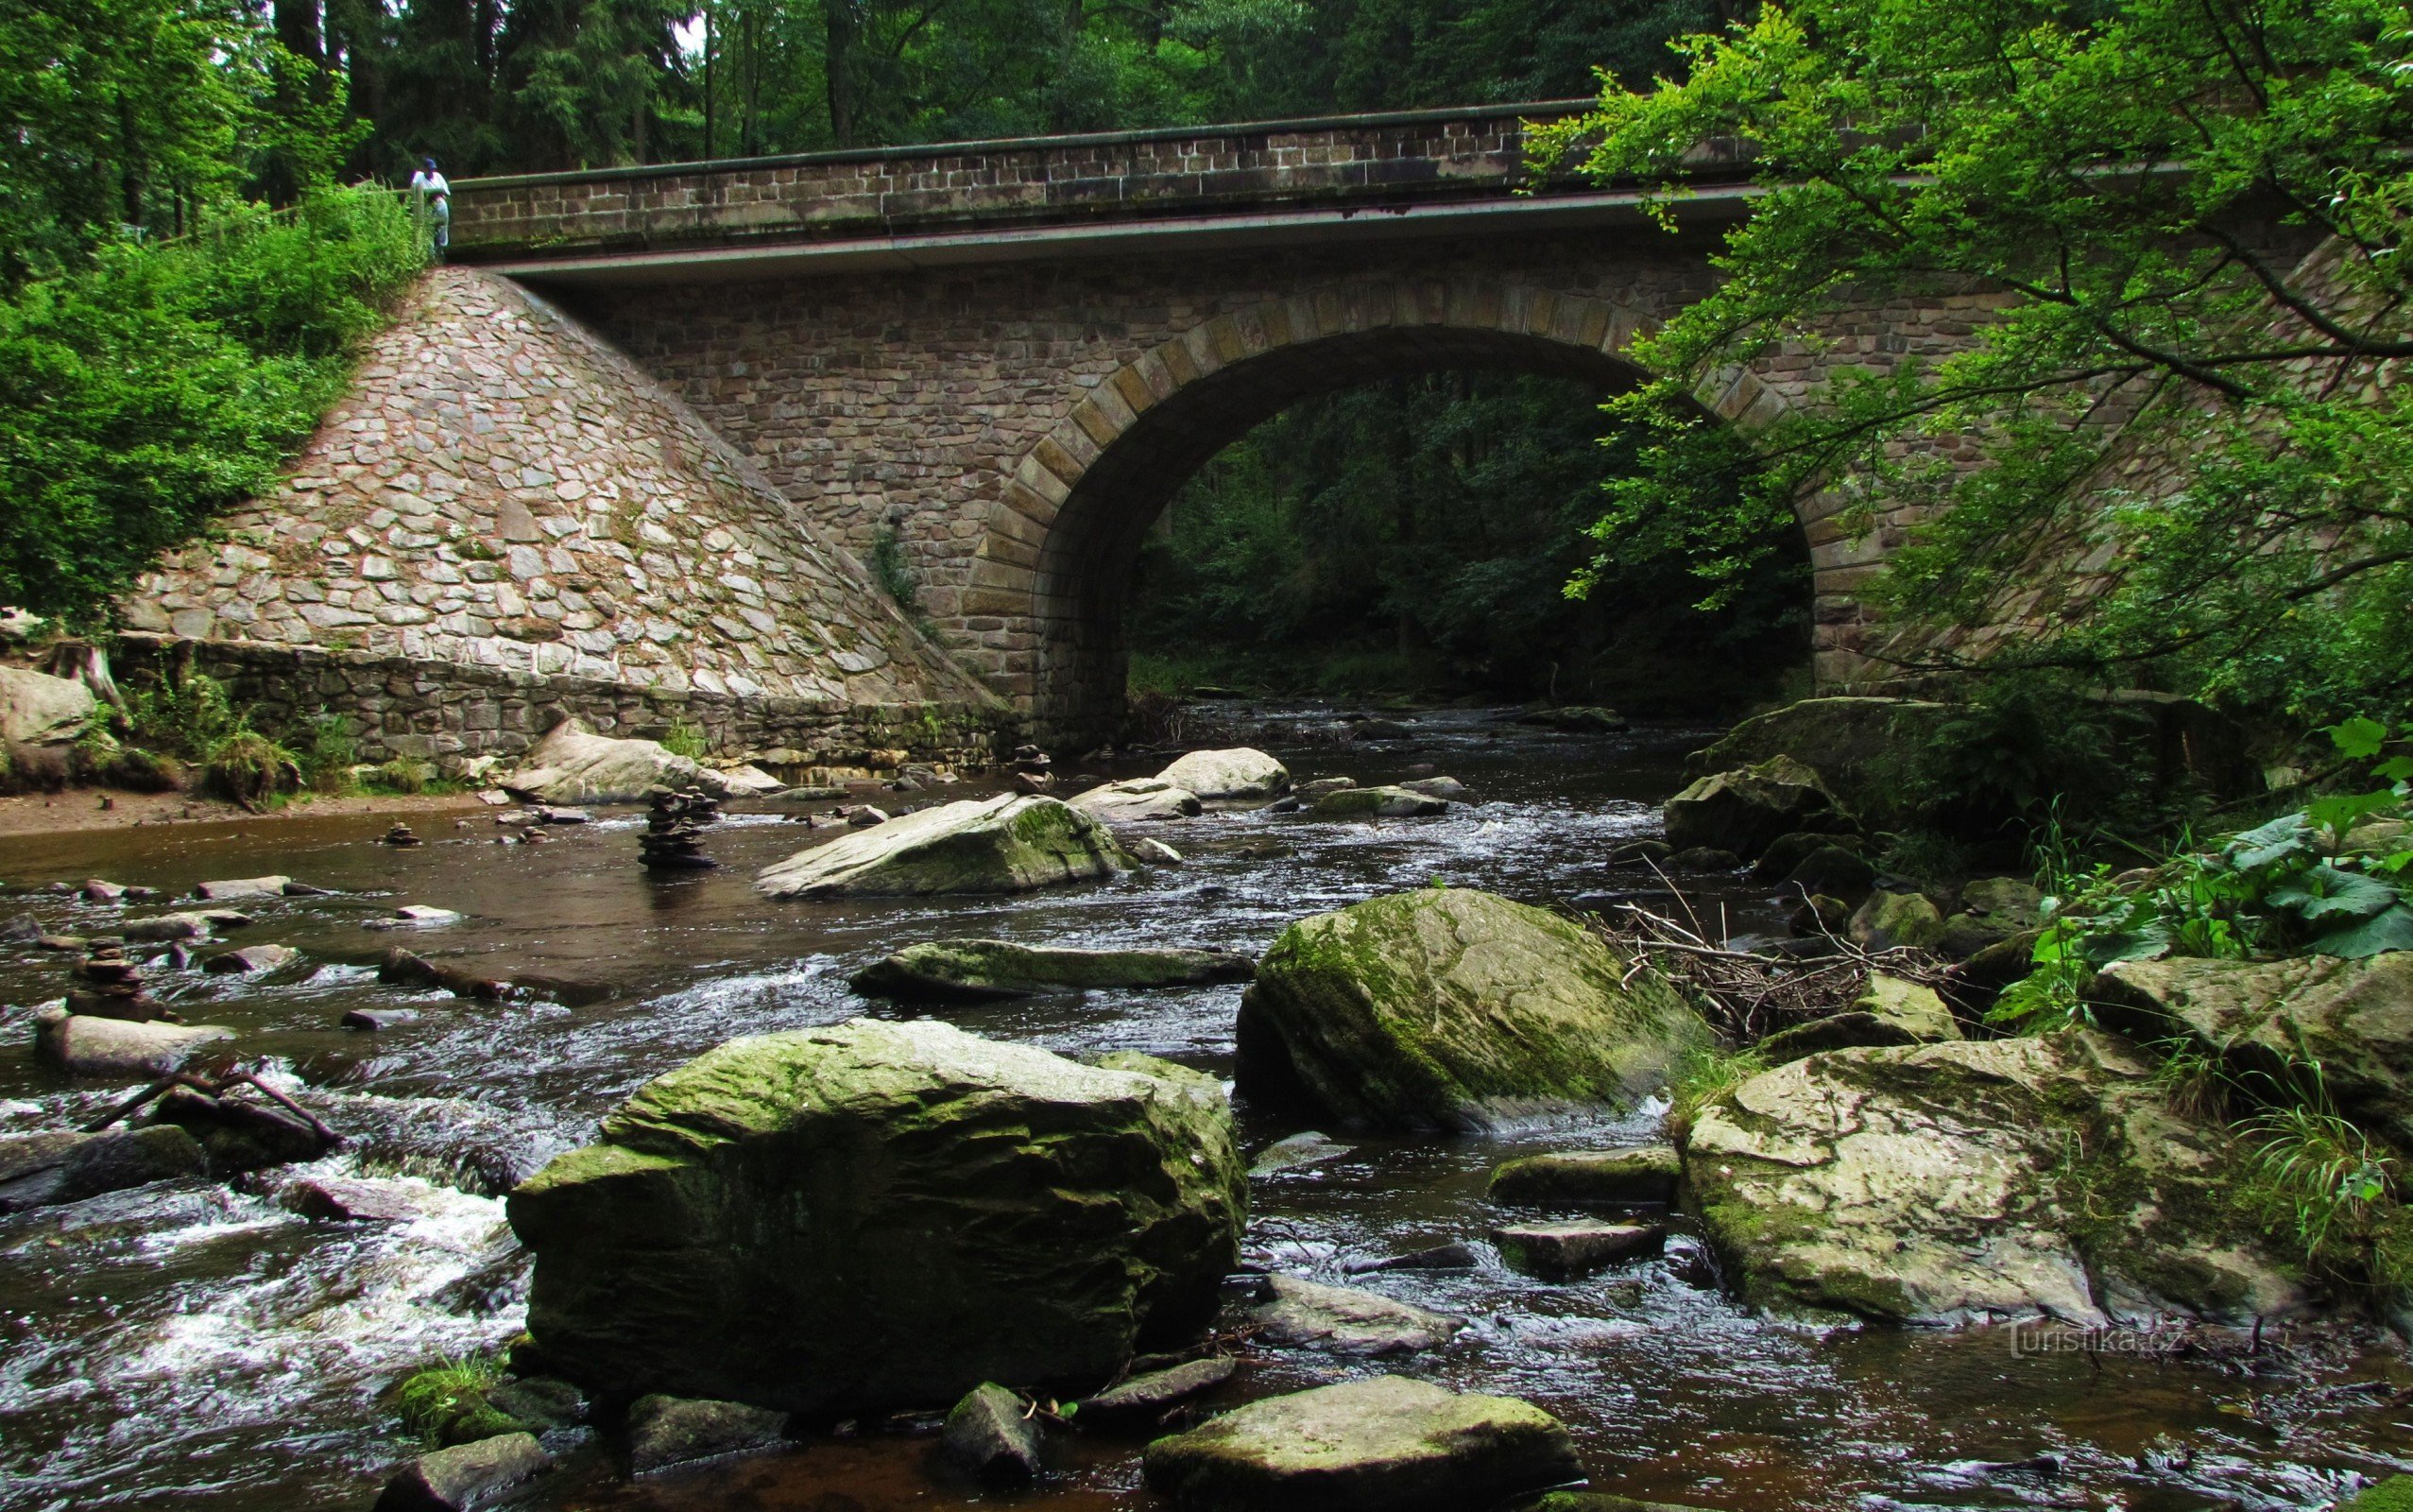
<path id="1" fill-rule="evenodd" d="M 422 280 L 285 485 L 164 558 L 121 621 L 417 667 L 388 674 L 413 686 L 572 679 L 627 698 L 818 708 L 816 729 L 999 713 L 852 556 L 627 357 L 461 268 Z M 408 729 L 393 734 L 430 734 L 439 751 L 483 734 L 396 710 Z"/>

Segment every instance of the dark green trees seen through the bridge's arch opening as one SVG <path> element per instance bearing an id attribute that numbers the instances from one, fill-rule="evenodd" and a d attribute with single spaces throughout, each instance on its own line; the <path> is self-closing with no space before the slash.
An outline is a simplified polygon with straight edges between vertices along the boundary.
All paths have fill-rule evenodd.
<path id="1" fill-rule="evenodd" d="M 1192 681 L 1438 691 L 1704 708 L 1774 691 L 1800 662 L 1800 534 L 1733 604 L 1696 609 L 1682 563 L 1600 563 L 1583 524 L 1631 440 L 1600 442 L 1566 379 L 1436 374 L 1276 415 L 1206 464 L 1141 548 L 1144 657 Z M 1221 662 L 1221 671 L 1214 664 Z"/>

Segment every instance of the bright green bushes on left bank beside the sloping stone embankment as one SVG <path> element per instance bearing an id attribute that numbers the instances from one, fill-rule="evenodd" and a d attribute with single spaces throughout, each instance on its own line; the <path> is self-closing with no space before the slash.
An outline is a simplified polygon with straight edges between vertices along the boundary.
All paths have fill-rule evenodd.
<path id="1" fill-rule="evenodd" d="M 265 488 L 415 271 L 388 196 L 328 191 L 0 302 L 0 601 L 92 621 Z"/>

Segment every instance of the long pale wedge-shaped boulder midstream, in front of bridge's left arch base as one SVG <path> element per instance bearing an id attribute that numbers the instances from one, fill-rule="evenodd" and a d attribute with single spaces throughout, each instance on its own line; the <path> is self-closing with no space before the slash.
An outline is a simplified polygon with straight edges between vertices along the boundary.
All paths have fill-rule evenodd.
<path id="1" fill-rule="evenodd" d="M 1018 894 L 1137 862 L 1096 816 L 1052 797 L 985 797 L 808 845 L 755 874 L 767 899 Z"/>

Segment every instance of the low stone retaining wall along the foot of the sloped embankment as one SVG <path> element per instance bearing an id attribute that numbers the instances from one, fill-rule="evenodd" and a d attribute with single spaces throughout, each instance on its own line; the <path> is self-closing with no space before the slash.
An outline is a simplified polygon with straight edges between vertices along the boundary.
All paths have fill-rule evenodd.
<path id="1" fill-rule="evenodd" d="M 251 725 L 273 737 L 299 737 L 321 715 L 345 715 L 362 761 L 497 756 L 512 763 L 567 717 L 601 734 L 647 739 L 690 725 L 705 734 L 714 758 L 775 768 L 890 768 L 905 756 L 980 766 L 1016 739 L 1016 727 L 994 710 L 960 703 L 673 691 L 357 650 L 166 635 L 118 635 L 111 659 L 135 691 L 169 676 L 212 676 Z"/>

